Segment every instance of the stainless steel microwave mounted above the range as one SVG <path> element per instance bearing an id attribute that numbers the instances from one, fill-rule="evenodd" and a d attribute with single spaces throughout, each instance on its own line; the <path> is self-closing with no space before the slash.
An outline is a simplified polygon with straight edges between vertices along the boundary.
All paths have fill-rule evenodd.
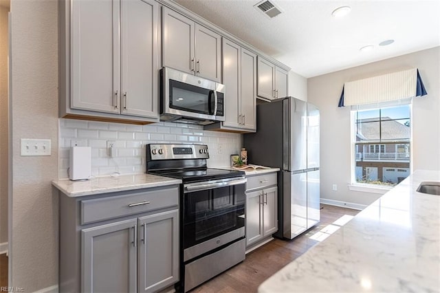
<path id="1" fill-rule="evenodd" d="M 160 75 L 160 120 L 203 125 L 225 120 L 225 85 L 170 67 Z"/>

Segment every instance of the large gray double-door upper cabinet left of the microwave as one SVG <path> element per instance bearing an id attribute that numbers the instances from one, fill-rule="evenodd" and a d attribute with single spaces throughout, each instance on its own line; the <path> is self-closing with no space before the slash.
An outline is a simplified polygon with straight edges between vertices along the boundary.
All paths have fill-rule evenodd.
<path id="1" fill-rule="evenodd" d="M 60 3 L 61 116 L 157 121 L 159 4 Z"/>

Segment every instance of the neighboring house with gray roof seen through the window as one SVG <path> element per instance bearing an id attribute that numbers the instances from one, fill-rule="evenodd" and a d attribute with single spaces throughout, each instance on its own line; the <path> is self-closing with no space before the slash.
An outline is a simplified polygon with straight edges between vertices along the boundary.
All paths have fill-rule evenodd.
<path id="1" fill-rule="evenodd" d="M 410 127 L 384 117 L 358 120 L 355 158 L 357 181 L 397 184 L 410 174 Z M 382 133 L 382 137 L 381 137 Z"/>

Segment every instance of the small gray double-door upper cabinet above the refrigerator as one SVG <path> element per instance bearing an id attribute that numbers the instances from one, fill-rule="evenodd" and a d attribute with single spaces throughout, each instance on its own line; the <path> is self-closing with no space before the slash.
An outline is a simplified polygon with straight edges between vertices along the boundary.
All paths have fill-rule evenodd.
<path id="1" fill-rule="evenodd" d="M 287 71 L 259 56 L 258 91 L 261 98 L 273 100 L 287 96 Z"/>

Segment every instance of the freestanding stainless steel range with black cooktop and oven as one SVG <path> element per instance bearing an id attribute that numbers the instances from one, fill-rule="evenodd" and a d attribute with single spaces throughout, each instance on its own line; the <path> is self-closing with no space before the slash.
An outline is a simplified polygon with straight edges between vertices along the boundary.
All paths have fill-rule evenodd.
<path id="1" fill-rule="evenodd" d="M 208 146 L 148 144 L 147 173 L 178 178 L 180 281 L 187 292 L 245 259 L 245 173 L 207 168 Z"/>

